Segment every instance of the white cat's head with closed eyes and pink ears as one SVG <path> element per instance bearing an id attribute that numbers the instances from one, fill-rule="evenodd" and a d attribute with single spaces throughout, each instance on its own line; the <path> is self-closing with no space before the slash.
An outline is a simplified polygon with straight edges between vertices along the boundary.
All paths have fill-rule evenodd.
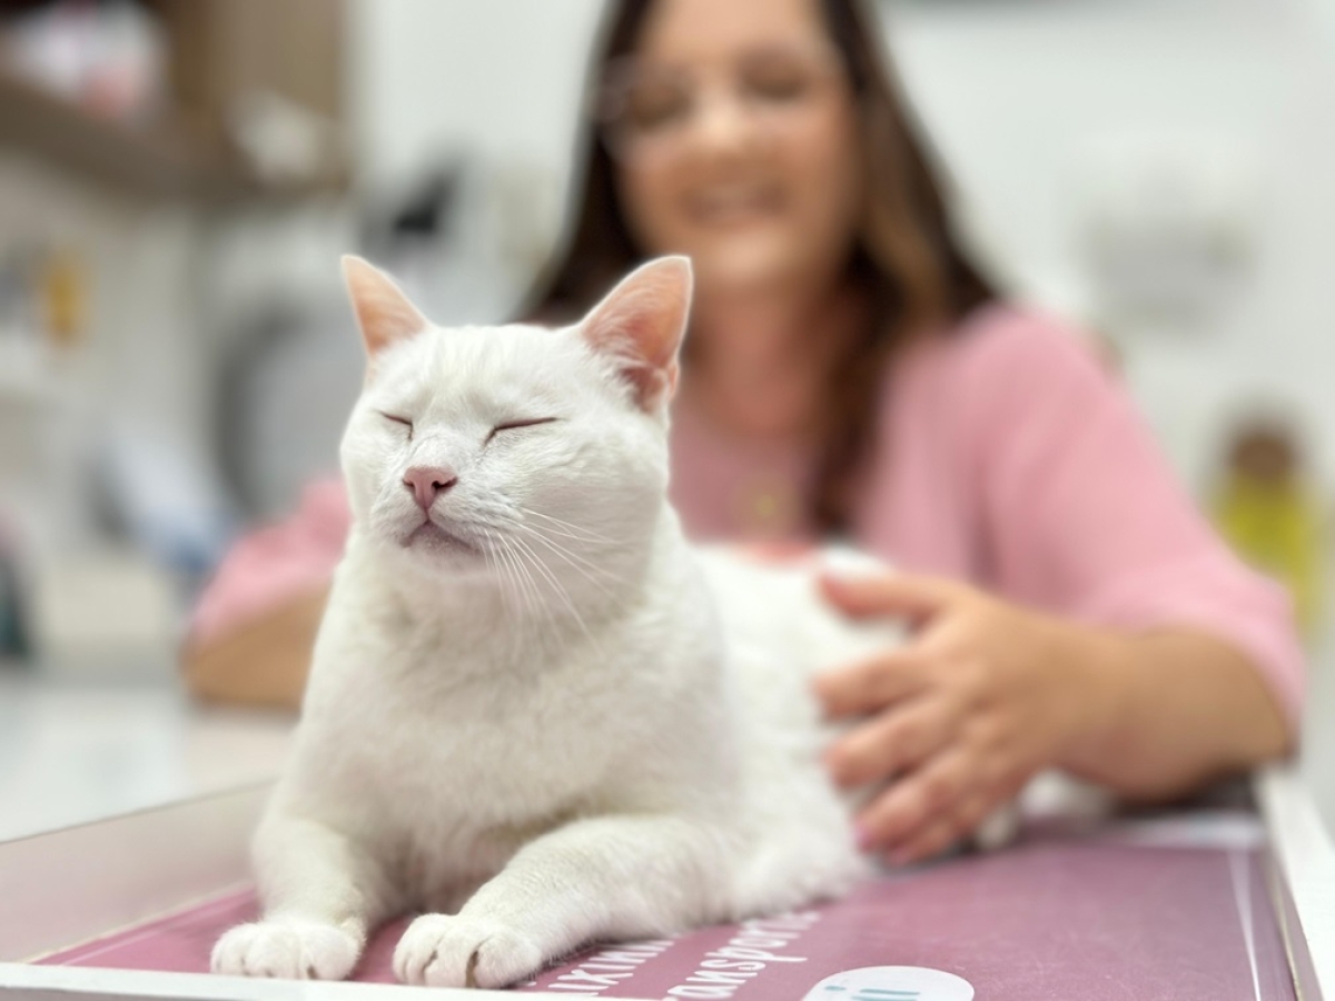
<path id="1" fill-rule="evenodd" d="M 359 538 L 443 578 L 611 583 L 665 503 L 689 260 L 555 330 L 437 327 L 364 260 L 343 268 L 368 355 L 342 446 Z"/>

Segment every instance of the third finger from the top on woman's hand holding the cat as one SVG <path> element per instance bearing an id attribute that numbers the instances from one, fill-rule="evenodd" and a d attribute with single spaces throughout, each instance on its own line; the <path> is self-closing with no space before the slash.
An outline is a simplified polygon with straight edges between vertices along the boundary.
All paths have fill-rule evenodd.
<path id="1" fill-rule="evenodd" d="M 825 766 L 844 789 L 884 782 L 944 749 L 961 717 L 952 699 L 932 695 L 909 699 L 840 737 L 825 751 Z"/>

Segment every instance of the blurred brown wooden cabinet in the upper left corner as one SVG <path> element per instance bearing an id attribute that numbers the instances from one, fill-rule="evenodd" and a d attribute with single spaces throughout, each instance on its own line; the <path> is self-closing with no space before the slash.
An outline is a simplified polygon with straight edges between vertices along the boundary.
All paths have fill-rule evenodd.
<path id="1" fill-rule="evenodd" d="M 0 19 L 45 5 L 0 0 Z M 85 5 L 87 7 L 87 5 Z M 0 151 L 121 192 L 227 202 L 339 188 L 347 176 L 343 0 L 143 0 L 164 55 L 162 107 L 99 113 L 0 64 Z M 12 52 L 17 44 L 7 39 Z"/>

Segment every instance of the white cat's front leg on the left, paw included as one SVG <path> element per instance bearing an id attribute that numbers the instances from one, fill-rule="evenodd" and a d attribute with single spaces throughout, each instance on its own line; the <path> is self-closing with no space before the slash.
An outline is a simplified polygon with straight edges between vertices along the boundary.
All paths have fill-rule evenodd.
<path id="1" fill-rule="evenodd" d="M 272 815 L 255 836 L 264 916 L 214 946 L 214 973 L 343 980 L 367 932 L 392 913 L 395 893 L 372 854 L 316 821 Z"/>

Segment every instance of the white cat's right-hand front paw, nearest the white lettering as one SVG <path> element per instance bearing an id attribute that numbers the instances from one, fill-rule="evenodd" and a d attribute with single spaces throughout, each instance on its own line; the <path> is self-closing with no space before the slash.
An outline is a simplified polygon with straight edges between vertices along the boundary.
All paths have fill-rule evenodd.
<path id="1" fill-rule="evenodd" d="M 546 957 L 537 942 L 494 921 L 423 914 L 394 950 L 394 974 L 430 988 L 505 988 L 531 977 Z"/>

